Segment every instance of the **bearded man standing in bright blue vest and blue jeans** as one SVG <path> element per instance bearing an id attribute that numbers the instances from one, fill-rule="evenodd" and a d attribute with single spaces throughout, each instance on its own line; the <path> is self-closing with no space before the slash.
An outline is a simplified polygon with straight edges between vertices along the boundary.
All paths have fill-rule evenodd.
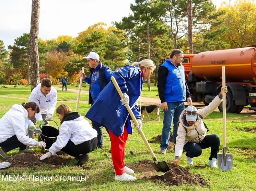
<path id="1" fill-rule="evenodd" d="M 192 104 L 190 93 L 185 80 L 185 69 L 182 66 L 183 52 L 175 49 L 170 59 L 166 59 L 158 69 L 158 95 L 164 110 L 162 129 L 162 144 L 159 154 L 166 154 L 173 125 L 173 142 L 176 143 L 177 122 L 179 115 L 185 109 L 184 101 Z"/>

